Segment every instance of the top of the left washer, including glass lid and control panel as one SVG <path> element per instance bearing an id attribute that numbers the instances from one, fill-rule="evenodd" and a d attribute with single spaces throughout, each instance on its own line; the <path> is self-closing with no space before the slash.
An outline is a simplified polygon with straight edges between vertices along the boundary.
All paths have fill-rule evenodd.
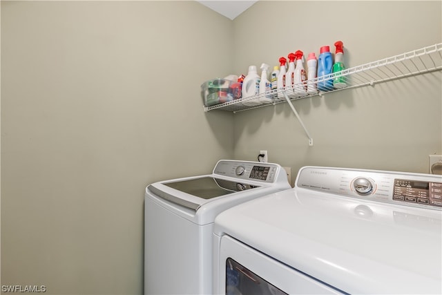
<path id="1" fill-rule="evenodd" d="M 278 164 L 220 160 L 212 174 L 155 182 L 146 187 L 145 196 L 205 225 L 236 204 L 290 188 L 285 170 Z"/>

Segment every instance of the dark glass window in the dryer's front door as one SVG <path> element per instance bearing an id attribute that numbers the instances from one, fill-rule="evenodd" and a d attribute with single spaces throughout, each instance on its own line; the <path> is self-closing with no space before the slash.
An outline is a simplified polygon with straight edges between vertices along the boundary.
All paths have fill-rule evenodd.
<path id="1" fill-rule="evenodd" d="M 287 294 L 232 258 L 226 261 L 226 294 Z"/>

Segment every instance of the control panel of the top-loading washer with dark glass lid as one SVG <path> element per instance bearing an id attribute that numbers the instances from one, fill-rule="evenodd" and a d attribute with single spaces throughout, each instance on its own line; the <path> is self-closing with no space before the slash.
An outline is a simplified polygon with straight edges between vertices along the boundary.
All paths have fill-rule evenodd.
<path id="1" fill-rule="evenodd" d="M 281 170 L 278 164 L 273 163 L 222 160 L 216 164 L 213 173 L 240 180 L 273 183 L 278 180 Z"/>

